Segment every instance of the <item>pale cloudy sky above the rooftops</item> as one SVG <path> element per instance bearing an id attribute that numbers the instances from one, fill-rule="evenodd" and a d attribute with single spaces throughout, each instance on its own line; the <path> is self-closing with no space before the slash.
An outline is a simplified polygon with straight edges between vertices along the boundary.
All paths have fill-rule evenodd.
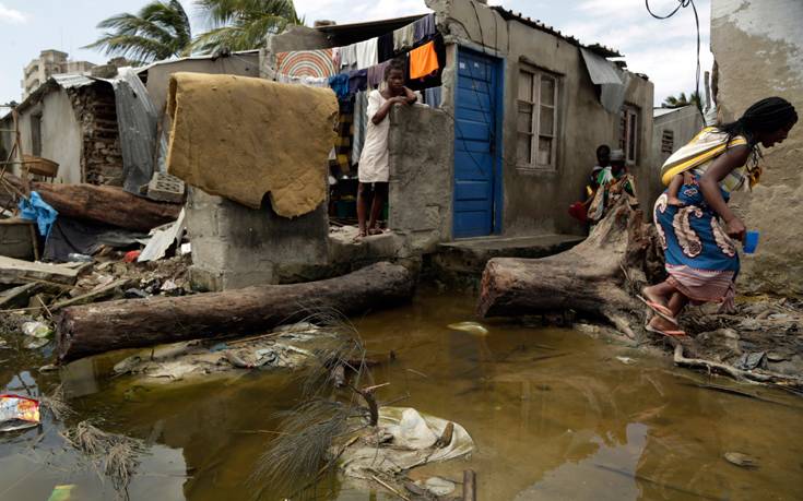
<path id="1" fill-rule="evenodd" d="M 99 32 L 98 21 L 120 12 L 135 12 L 146 0 L 0 0 L 0 104 L 20 100 L 22 69 L 43 49 L 59 49 L 72 59 L 104 62 L 108 58 L 81 46 Z M 196 32 L 203 26 L 191 0 Z M 541 20 L 581 41 L 602 43 L 625 55 L 631 71 L 646 73 L 656 84 L 656 102 L 694 88 L 696 32 L 692 9 L 668 21 L 653 20 L 643 0 L 491 0 L 526 16 Z M 424 0 L 295 0 L 308 24 L 318 19 L 340 24 L 427 12 Z M 677 0 L 650 0 L 654 11 L 672 10 Z M 708 49 L 710 0 L 696 0 L 702 37 L 702 69 L 710 68 Z"/>

